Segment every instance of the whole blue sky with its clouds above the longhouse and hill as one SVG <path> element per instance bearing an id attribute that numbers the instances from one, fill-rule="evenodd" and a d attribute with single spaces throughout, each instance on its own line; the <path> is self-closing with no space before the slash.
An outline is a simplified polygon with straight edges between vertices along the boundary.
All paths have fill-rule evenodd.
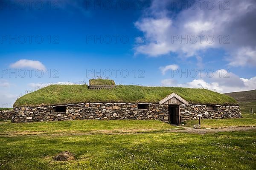
<path id="1" fill-rule="evenodd" d="M 20 2 L 0 3 L 0 107 L 26 91 L 96 76 L 220 93 L 256 88 L 253 0 L 210 1 L 214 8 L 190 0 Z"/>

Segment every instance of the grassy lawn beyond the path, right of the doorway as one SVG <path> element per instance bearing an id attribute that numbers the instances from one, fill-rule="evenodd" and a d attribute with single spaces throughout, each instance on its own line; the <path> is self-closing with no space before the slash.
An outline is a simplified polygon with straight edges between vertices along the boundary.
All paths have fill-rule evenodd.
<path id="1" fill-rule="evenodd" d="M 198 124 L 198 120 L 191 120 L 185 122 L 186 126 L 193 126 Z M 238 119 L 204 119 L 201 120 L 202 128 L 218 128 L 230 126 L 256 126 L 256 114 L 244 113 L 242 118 Z"/>

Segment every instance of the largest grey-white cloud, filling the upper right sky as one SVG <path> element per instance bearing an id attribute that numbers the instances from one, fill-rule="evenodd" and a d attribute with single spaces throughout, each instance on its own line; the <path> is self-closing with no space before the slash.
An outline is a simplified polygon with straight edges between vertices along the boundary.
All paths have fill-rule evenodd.
<path id="1" fill-rule="evenodd" d="M 227 4 L 220 9 L 219 0 L 206 0 L 202 8 L 197 3 L 197 8 L 178 13 L 171 10 L 173 2 L 153 0 L 135 23 L 146 40 L 135 48 L 135 54 L 158 57 L 174 52 L 197 57 L 209 48 L 223 48 L 230 66 L 256 65 L 255 0 L 233 0 L 228 10 L 224 10 Z M 207 2 L 213 2 L 214 8 L 207 8 Z"/>

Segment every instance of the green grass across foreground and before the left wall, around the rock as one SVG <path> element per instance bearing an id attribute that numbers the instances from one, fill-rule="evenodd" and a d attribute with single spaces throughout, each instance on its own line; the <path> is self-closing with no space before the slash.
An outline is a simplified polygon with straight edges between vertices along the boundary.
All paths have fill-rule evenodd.
<path id="1" fill-rule="evenodd" d="M 0 170 L 256 168 L 256 131 L 204 135 L 166 131 L 172 128 L 160 121 L 136 120 L 17 124 L 0 121 Z M 113 133 L 142 132 L 145 129 L 151 131 Z M 77 133 L 95 130 L 102 131 Z M 34 133 L 26 133 L 31 131 Z M 35 133 L 40 131 L 44 134 Z M 52 159 L 64 150 L 74 153 L 76 159 L 67 162 Z"/>

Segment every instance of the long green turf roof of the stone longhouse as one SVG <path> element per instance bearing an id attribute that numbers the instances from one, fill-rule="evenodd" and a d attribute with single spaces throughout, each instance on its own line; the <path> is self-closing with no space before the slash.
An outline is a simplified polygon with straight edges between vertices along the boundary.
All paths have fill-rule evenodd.
<path id="1" fill-rule="evenodd" d="M 87 85 L 50 85 L 20 97 L 14 107 L 83 102 L 158 103 L 173 92 L 190 104 L 237 105 L 232 97 L 206 89 L 118 85 L 114 89 L 90 90 Z"/>

